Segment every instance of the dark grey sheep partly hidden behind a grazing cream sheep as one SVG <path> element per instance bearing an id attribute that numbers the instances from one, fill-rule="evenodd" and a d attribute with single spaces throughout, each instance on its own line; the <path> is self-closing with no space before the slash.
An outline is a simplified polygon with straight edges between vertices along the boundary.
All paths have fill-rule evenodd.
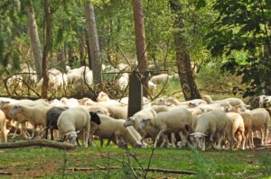
<path id="1" fill-rule="evenodd" d="M 58 120 L 62 112 L 68 108 L 61 107 L 51 107 L 48 112 L 46 112 L 46 128 L 45 128 L 45 139 L 48 137 L 48 130 L 51 131 L 51 140 L 53 140 L 53 130 L 58 130 Z"/>

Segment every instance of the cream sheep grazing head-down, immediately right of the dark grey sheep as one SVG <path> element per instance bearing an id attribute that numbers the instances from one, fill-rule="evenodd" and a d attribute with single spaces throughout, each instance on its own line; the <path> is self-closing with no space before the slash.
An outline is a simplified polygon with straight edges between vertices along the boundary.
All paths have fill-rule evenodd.
<path id="1" fill-rule="evenodd" d="M 71 144 L 75 144 L 78 131 L 84 130 L 84 144 L 87 147 L 89 141 L 90 121 L 100 124 L 98 118 L 92 118 L 91 113 L 86 107 L 77 106 L 61 113 L 57 122 L 58 129 L 61 132 L 61 139 L 69 139 Z"/>

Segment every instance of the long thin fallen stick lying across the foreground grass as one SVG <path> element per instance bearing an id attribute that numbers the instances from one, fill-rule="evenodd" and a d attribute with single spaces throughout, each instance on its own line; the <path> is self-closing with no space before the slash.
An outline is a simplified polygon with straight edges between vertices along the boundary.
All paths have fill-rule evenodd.
<path id="1" fill-rule="evenodd" d="M 70 167 L 67 170 L 71 171 L 91 171 L 91 170 L 116 170 L 121 169 L 121 166 L 96 166 L 96 167 Z M 134 170 L 142 170 L 140 167 L 135 167 Z M 182 170 L 169 170 L 169 169 L 162 169 L 162 168 L 145 168 L 145 171 L 148 172 L 160 172 L 164 174 L 182 174 L 182 175 L 196 175 L 195 172 L 190 171 L 182 171 Z"/>

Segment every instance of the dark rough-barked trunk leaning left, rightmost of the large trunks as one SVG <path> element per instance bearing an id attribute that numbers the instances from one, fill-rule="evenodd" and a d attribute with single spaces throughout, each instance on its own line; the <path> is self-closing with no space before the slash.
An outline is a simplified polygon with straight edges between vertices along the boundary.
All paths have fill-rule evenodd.
<path id="1" fill-rule="evenodd" d="M 182 4 L 179 0 L 170 0 L 171 9 L 175 14 L 173 28 L 177 29 L 173 34 L 176 50 L 176 62 L 178 74 L 182 86 L 182 94 L 185 100 L 201 98 L 201 94 L 195 84 L 192 75 L 191 58 L 189 56 L 186 38 L 184 33 L 184 24 L 182 18 Z"/>

